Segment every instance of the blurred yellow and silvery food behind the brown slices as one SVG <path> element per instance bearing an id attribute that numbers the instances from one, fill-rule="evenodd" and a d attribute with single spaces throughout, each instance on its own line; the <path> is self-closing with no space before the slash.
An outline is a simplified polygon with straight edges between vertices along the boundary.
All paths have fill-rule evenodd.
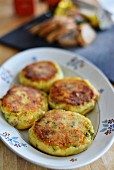
<path id="1" fill-rule="evenodd" d="M 79 0 L 62 0 L 55 9 L 55 15 L 72 16 L 77 22 L 80 18 L 101 30 L 109 28 L 113 23 L 108 11 Z"/>

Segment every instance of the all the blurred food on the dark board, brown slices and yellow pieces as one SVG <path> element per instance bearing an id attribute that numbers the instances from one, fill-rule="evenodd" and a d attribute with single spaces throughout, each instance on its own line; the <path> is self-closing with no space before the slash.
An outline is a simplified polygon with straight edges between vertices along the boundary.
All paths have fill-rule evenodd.
<path id="1" fill-rule="evenodd" d="M 54 6 L 51 4 L 54 1 L 49 2 Z M 107 29 L 112 24 L 111 14 L 102 8 L 78 0 L 58 0 L 53 17 L 33 26 L 30 32 L 63 47 L 86 46 L 95 40 L 98 29 Z"/>

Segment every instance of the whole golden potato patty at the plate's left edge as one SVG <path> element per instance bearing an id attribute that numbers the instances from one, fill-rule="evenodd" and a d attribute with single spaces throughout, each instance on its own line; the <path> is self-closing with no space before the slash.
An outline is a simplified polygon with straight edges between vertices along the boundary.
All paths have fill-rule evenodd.
<path id="1" fill-rule="evenodd" d="M 1 99 L 1 110 L 12 126 L 30 128 L 48 110 L 47 94 L 32 87 L 13 86 Z"/>

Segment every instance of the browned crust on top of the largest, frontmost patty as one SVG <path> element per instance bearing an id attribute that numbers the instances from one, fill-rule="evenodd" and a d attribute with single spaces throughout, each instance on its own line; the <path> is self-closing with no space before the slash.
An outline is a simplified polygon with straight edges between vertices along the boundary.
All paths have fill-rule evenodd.
<path id="1" fill-rule="evenodd" d="M 51 146 L 79 147 L 84 144 L 90 126 L 90 122 L 80 114 L 51 110 L 35 122 L 33 131 L 39 140 Z"/>

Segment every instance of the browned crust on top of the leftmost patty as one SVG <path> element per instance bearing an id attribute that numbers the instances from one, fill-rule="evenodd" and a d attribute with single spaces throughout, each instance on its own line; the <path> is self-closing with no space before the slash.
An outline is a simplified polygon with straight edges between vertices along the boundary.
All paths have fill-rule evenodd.
<path id="1" fill-rule="evenodd" d="M 27 86 L 14 86 L 2 98 L 2 107 L 7 111 L 18 113 L 37 111 L 41 105 L 44 93 Z"/>

